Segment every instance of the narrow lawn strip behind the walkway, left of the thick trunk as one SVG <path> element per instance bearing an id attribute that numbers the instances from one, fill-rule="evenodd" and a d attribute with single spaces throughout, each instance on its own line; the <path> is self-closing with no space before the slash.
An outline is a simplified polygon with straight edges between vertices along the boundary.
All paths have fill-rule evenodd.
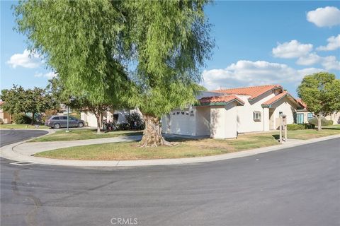
<path id="1" fill-rule="evenodd" d="M 142 135 L 142 131 L 111 131 L 108 133 L 96 133 L 96 129 L 71 129 L 69 133 L 65 130 L 56 131 L 47 136 L 35 138 L 30 142 L 38 141 L 76 141 L 76 140 L 87 140 L 96 138 L 110 138 L 116 136 L 134 136 Z"/>

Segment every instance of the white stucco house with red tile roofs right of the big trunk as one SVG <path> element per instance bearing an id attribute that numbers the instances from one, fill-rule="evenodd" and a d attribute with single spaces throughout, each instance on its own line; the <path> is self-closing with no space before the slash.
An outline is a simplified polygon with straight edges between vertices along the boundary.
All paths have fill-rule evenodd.
<path id="1" fill-rule="evenodd" d="M 300 103 L 281 85 L 261 85 L 205 92 L 199 105 L 174 109 L 162 117 L 162 132 L 211 138 L 278 129 L 280 114 L 293 124 Z"/>

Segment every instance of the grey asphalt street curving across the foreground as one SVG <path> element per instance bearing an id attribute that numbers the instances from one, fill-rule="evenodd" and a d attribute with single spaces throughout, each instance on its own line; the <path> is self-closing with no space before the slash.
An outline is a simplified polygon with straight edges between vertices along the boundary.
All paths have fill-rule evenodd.
<path id="1" fill-rule="evenodd" d="M 191 165 L 11 162 L 0 163 L 1 226 L 340 225 L 339 138 Z"/>

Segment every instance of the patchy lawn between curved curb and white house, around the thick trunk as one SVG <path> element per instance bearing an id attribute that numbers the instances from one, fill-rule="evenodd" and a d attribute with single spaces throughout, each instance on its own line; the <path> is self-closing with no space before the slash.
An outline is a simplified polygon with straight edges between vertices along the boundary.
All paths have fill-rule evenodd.
<path id="1" fill-rule="evenodd" d="M 288 131 L 288 138 L 308 139 L 334 134 L 340 134 L 340 126 L 328 126 L 322 131 L 313 129 Z M 226 140 L 169 138 L 168 141 L 176 144 L 174 147 L 139 148 L 137 142 L 104 143 L 50 150 L 37 153 L 35 156 L 68 160 L 147 160 L 198 157 L 278 145 L 276 138 L 278 138 L 277 132 L 244 134 L 237 139 Z"/>

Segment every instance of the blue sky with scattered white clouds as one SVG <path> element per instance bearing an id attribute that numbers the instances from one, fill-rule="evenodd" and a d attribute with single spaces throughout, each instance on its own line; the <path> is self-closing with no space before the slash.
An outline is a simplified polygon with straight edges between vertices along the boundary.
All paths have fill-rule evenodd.
<path id="1" fill-rule="evenodd" d="M 53 73 L 13 31 L 15 3 L 1 1 L 1 89 L 44 87 Z M 216 45 L 203 69 L 210 90 L 280 84 L 296 95 L 308 73 L 340 78 L 339 1 L 215 1 L 206 14 Z"/>

